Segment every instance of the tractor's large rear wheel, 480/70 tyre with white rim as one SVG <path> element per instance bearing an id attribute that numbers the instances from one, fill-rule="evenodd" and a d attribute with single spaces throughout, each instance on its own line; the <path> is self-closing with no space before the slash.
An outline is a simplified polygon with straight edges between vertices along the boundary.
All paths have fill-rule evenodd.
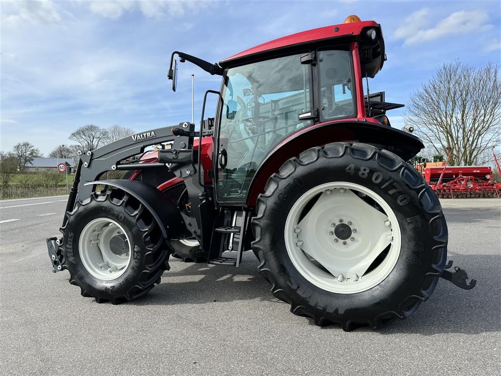
<path id="1" fill-rule="evenodd" d="M 367 144 L 332 143 L 284 163 L 252 224 L 273 294 L 344 330 L 408 317 L 447 257 L 445 219 L 422 176 Z"/>

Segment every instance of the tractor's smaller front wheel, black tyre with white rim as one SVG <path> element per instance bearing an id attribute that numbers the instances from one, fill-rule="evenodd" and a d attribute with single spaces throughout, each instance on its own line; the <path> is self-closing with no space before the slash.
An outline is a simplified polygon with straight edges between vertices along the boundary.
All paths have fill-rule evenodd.
<path id="1" fill-rule="evenodd" d="M 105 240 L 109 240 L 104 236 L 108 226 L 102 225 L 106 221 L 121 230 L 117 233 L 125 233 L 121 234 L 123 241 L 118 239 L 122 247 L 118 251 L 117 239 L 113 246 L 103 248 Z M 169 252 L 158 224 L 141 203 L 123 191 L 94 193 L 77 202 L 75 209 L 66 213 L 61 232 L 70 283 L 80 287 L 82 296 L 94 297 L 98 303 L 119 304 L 143 296 L 160 283 L 162 273 L 169 269 Z M 129 260 L 124 261 L 125 266 L 119 265 L 122 269 L 118 271 L 106 260 L 113 259 L 111 248 L 114 254 L 124 249 L 122 256 Z"/>

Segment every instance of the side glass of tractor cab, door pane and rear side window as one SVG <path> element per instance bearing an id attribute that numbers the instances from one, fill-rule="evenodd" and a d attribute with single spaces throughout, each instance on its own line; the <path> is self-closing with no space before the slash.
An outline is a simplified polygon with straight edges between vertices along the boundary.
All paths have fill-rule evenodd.
<path id="1" fill-rule="evenodd" d="M 322 117 L 348 117 L 354 112 L 349 52 L 329 50 L 319 54 L 323 56 L 318 63 L 323 81 L 319 93 Z M 308 119 L 313 108 L 312 65 L 301 63 L 304 55 L 228 69 L 219 128 L 220 202 L 243 201 L 270 151 L 288 135 L 313 124 Z"/>

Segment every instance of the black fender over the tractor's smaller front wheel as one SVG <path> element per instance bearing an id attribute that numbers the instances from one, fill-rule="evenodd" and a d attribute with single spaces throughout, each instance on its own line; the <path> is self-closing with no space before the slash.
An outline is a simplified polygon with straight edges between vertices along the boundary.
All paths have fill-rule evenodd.
<path id="1" fill-rule="evenodd" d="M 186 232 L 186 226 L 179 210 L 166 195 L 154 186 L 142 181 L 126 179 L 97 180 L 85 183 L 85 185 L 97 184 L 112 186 L 137 199 L 156 220 L 165 239 L 171 239 Z"/>

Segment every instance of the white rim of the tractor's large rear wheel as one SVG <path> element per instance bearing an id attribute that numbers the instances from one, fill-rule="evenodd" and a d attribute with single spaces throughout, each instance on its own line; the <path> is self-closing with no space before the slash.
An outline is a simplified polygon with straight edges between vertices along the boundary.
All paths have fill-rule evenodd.
<path id="1" fill-rule="evenodd" d="M 327 291 L 354 294 L 377 286 L 391 273 L 400 255 L 401 233 L 393 210 L 379 195 L 337 181 L 316 186 L 293 205 L 285 243 L 292 263 L 308 281 Z"/>

